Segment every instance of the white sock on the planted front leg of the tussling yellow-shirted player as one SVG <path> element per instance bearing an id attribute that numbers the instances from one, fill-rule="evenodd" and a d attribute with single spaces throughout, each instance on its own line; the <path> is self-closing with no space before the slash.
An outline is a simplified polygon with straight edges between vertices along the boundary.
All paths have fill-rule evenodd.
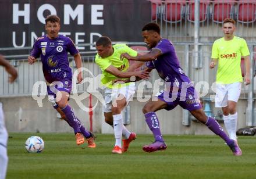
<path id="1" fill-rule="evenodd" d="M 122 114 L 113 115 L 113 126 L 116 138 L 116 145 L 122 148 L 122 131 L 123 131 L 123 119 Z"/>

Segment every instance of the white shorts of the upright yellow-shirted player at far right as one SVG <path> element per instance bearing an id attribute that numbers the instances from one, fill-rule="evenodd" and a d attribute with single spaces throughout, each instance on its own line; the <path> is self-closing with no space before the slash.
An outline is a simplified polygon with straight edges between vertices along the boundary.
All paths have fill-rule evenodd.
<path id="1" fill-rule="evenodd" d="M 227 106 L 227 101 L 237 102 L 241 94 L 241 83 L 216 84 L 215 107 Z"/>

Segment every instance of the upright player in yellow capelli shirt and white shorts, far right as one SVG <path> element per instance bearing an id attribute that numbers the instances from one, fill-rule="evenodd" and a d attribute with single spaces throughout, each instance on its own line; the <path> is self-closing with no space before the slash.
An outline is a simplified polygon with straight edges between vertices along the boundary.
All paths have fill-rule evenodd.
<path id="1" fill-rule="evenodd" d="M 250 52 L 243 38 L 233 35 L 235 22 L 233 19 L 223 21 L 224 37 L 219 38 L 212 46 L 212 62 L 214 68 L 218 62 L 216 76 L 215 107 L 222 108 L 223 120 L 230 139 L 237 140 L 237 101 L 241 92 L 241 58 L 244 58 L 246 75 L 244 83 L 250 84 Z"/>

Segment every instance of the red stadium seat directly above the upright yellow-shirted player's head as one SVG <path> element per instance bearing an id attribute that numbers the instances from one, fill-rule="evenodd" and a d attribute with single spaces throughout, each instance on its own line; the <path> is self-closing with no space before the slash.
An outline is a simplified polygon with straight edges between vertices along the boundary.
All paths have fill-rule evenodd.
<path id="1" fill-rule="evenodd" d="M 234 0 L 215 0 L 212 5 L 212 21 L 222 23 L 226 18 L 233 18 Z"/>

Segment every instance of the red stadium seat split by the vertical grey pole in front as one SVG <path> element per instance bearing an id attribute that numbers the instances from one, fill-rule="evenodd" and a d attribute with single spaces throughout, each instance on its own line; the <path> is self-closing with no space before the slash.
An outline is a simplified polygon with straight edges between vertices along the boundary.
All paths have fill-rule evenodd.
<path id="1" fill-rule="evenodd" d="M 200 22 L 204 22 L 207 20 L 209 13 L 209 0 L 201 0 L 200 1 L 200 9 L 199 9 L 199 20 Z M 190 22 L 195 21 L 195 1 L 190 0 L 189 2 L 189 12 L 187 14 L 187 20 Z"/>

